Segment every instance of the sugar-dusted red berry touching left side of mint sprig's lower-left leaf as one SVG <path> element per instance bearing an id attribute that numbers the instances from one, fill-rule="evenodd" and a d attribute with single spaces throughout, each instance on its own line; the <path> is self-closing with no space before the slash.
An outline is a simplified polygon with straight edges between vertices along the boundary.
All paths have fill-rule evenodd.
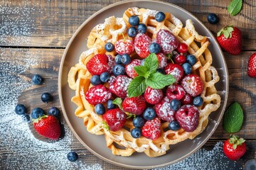
<path id="1" fill-rule="evenodd" d="M 110 91 L 120 98 L 126 98 L 127 89 L 131 81 L 131 78 L 124 75 L 110 77 Z"/>

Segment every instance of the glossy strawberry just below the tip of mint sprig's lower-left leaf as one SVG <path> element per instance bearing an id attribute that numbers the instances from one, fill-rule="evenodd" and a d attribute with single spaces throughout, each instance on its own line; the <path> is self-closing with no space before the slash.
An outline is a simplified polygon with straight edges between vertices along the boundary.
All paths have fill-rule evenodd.
<path id="1" fill-rule="evenodd" d="M 122 108 L 125 112 L 141 115 L 146 108 L 146 101 L 143 96 L 124 98 Z"/>

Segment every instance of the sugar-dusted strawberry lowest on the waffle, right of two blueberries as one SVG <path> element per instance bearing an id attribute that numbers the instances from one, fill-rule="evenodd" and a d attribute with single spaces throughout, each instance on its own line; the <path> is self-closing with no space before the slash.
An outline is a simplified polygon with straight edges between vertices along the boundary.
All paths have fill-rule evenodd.
<path id="1" fill-rule="evenodd" d="M 154 118 L 148 120 L 142 127 L 142 135 L 151 140 L 157 140 L 161 135 L 161 120 Z"/>

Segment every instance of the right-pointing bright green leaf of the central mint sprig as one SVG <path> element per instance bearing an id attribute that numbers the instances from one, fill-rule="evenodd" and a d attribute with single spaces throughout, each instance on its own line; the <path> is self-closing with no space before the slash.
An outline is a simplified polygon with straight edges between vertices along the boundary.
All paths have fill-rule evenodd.
<path id="1" fill-rule="evenodd" d="M 163 89 L 165 86 L 174 84 L 176 79 L 171 74 L 161 74 L 156 72 L 151 74 L 149 79 L 146 79 L 146 85 L 150 86 L 152 89 Z"/>

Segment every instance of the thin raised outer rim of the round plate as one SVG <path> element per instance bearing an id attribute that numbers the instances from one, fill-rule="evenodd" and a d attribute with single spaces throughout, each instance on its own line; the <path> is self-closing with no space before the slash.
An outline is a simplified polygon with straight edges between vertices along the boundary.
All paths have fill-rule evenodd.
<path id="1" fill-rule="evenodd" d="M 70 48 L 70 45 L 72 45 L 73 43 L 73 40 L 76 38 L 76 36 L 78 35 L 78 33 L 80 33 L 80 30 L 87 24 L 89 23 L 93 18 L 95 18 L 95 16 L 97 16 L 98 14 L 102 13 L 103 11 L 106 11 L 107 9 L 109 8 L 113 8 L 114 6 L 119 6 L 120 4 L 127 4 L 127 3 L 131 3 L 131 2 L 134 2 L 134 3 L 139 3 L 139 2 L 145 2 L 145 1 L 149 1 L 149 2 L 153 2 L 153 3 L 156 3 L 156 4 L 163 4 L 163 5 L 168 5 L 168 6 L 174 6 L 175 8 L 178 8 L 179 10 L 185 12 L 185 13 L 188 13 L 189 15 L 191 15 L 196 21 L 198 21 L 198 23 L 201 24 L 201 26 L 203 26 L 203 28 L 205 30 L 208 31 L 208 33 L 214 38 L 214 41 L 216 42 L 216 45 L 217 45 L 217 48 L 220 52 L 220 55 L 221 57 L 223 58 L 223 64 L 225 65 L 225 72 L 227 73 L 226 76 L 226 87 L 225 89 L 223 89 L 223 91 L 225 91 L 225 100 L 224 100 L 224 103 L 223 103 L 223 108 L 222 110 L 220 111 L 220 116 L 218 118 L 218 121 L 217 121 L 217 125 L 214 126 L 213 130 L 210 131 L 210 133 L 208 133 L 206 139 L 201 142 L 195 149 L 193 149 L 191 152 L 188 152 L 188 154 L 185 154 L 183 157 L 180 157 L 179 159 L 176 159 L 175 161 L 172 161 L 172 162 L 168 162 L 168 163 L 165 163 L 165 164 L 157 164 L 157 165 L 154 165 L 154 166 L 132 166 L 132 165 L 127 165 L 127 164 L 121 164 L 119 162 L 114 162 L 112 161 L 111 159 L 107 159 L 105 157 L 102 157 L 100 154 L 98 154 L 97 152 L 95 152 L 93 149 L 91 149 L 90 147 L 88 147 L 85 142 L 79 137 L 79 135 L 75 132 L 75 129 L 73 128 L 72 124 L 70 123 L 70 120 L 68 119 L 68 115 L 67 113 L 65 112 L 65 109 L 64 109 L 64 103 L 63 103 L 63 96 L 62 96 L 62 81 L 63 81 L 63 78 L 62 78 L 62 75 L 63 75 L 63 65 L 64 65 L 64 62 L 65 62 L 65 57 L 68 53 L 68 50 Z M 68 76 L 68 75 L 67 75 Z M 177 162 L 181 162 L 181 160 L 183 159 L 186 159 L 187 157 L 189 157 L 191 154 L 193 154 L 194 152 L 197 152 L 198 149 L 200 149 L 201 147 L 203 147 L 203 145 L 210 139 L 210 137 L 213 135 L 213 132 L 215 132 L 216 128 L 218 128 L 218 125 L 220 123 L 220 120 L 223 118 L 223 114 L 224 114 L 224 111 L 225 111 L 225 108 L 226 108 L 226 105 L 228 103 L 228 93 L 229 93 L 229 79 L 228 79 L 228 66 L 225 62 L 225 57 L 223 55 L 223 51 L 221 50 L 220 48 L 220 45 L 218 45 L 218 42 L 216 41 L 215 39 L 215 36 L 213 35 L 213 33 L 211 33 L 211 31 L 206 28 L 206 26 L 196 17 L 193 15 L 193 13 L 187 11 L 186 9 L 184 8 L 181 8 L 180 6 L 177 6 L 176 4 L 172 4 L 172 3 L 169 3 L 169 2 L 165 2 L 165 1 L 154 1 L 154 0 L 137 0 L 137 1 L 133 1 L 133 0 L 125 0 L 125 1 L 119 1 L 119 2 L 116 2 L 114 4 L 110 4 L 108 6 L 105 6 L 103 8 L 101 8 L 99 11 L 95 12 L 92 14 L 92 16 L 90 16 L 89 18 L 87 18 L 80 26 L 79 28 L 75 31 L 75 33 L 73 33 L 72 37 L 70 38 L 69 42 L 68 42 L 68 45 L 66 45 L 65 47 L 65 51 L 63 52 L 63 56 L 61 58 L 61 61 L 60 61 L 60 67 L 59 67 L 59 73 L 58 73 L 58 96 L 59 96 L 59 100 L 60 100 L 60 107 L 62 109 L 62 112 L 63 112 L 63 115 L 64 115 L 64 118 L 65 118 L 65 121 L 66 123 L 68 123 L 68 127 L 70 128 L 70 130 L 73 132 L 73 134 L 75 135 L 75 137 L 79 140 L 79 142 L 86 148 L 88 149 L 92 154 L 94 154 L 96 157 L 104 160 L 105 162 L 109 162 L 110 164 L 114 164 L 114 165 L 117 165 L 117 166 L 122 166 L 122 167 L 125 167 L 125 168 L 129 168 L 129 169 L 153 169 L 153 168 L 159 168 L 161 166 L 168 166 L 168 165 L 171 165 L 171 164 L 175 164 Z"/>

